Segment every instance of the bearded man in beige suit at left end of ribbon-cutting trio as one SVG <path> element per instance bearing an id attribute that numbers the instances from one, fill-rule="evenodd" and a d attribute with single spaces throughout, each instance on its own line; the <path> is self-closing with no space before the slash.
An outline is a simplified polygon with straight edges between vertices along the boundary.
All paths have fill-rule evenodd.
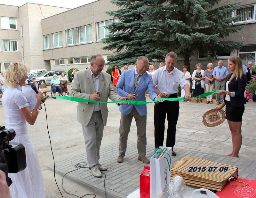
<path id="1" fill-rule="evenodd" d="M 90 67 L 76 72 L 72 81 L 70 95 L 76 98 L 108 101 L 121 101 L 127 97 L 120 97 L 111 85 L 111 77 L 101 72 L 105 66 L 104 58 L 97 54 L 90 59 Z M 108 168 L 100 165 L 100 144 L 103 128 L 107 124 L 108 107 L 106 103 L 78 102 L 77 121 L 82 124 L 86 154 L 89 168 L 95 177 L 102 177 L 100 171 Z"/>

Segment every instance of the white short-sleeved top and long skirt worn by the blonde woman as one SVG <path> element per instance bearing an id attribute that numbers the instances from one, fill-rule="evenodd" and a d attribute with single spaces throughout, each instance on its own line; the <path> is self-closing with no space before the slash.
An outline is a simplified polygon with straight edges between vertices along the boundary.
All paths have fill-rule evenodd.
<path id="1" fill-rule="evenodd" d="M 2 98 L 6 117 L 6 128 L 13 128 L 16 132 L 13 142 L 22 143 L 26 150 L 27 167 L 18 173 L 9 173 L 12 179 L 10 186 L 12 198 L 44 198 L 44 182 L 36 155 L 27 129 L 27 121 L 20 113 L 21 108 L 28 106 L 25 95 L 17 88 L 8 88 Z"/>

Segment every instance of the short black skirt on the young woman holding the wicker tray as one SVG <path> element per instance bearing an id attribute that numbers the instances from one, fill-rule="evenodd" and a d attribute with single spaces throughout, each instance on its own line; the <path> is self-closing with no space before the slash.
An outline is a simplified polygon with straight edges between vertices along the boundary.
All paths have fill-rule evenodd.
<path id="1" fill-rule="evenodd" d="M 241 122 L 244 114 L 244 105 L 239 107 L 234 107 L 231 105 L 230 101 L 226 102 L 226 119 L 234 122 Z"/>

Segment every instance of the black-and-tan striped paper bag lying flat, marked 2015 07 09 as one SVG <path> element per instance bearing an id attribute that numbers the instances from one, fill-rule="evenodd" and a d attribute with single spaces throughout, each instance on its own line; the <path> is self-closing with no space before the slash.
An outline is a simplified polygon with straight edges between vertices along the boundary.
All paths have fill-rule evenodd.
<path id="1" fill-rule="evenodd" d="M 176 175 L 187 185 L 221 191 L 230 177 L 238 178 L 238 167 L 185 156 L 172 164 L 171 178 Z"/>

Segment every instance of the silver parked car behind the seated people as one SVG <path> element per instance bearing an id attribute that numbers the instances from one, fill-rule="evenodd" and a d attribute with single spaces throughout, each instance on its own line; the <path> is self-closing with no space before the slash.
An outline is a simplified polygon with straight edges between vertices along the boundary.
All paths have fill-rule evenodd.
<path id="1" fill-rule="evenodd" d="M 38 76 L 36 76 L 35 77 L 36 82 L 38 82 L 38 84 L 51 84 L 53 74 L 56 74 L 57 78 L 59 78 L 61 72 L 63 72 L 65 76 L 68 78 L 68 73 L 64 70 L 50 70 L 50 71 L 44 71 Z"/>

